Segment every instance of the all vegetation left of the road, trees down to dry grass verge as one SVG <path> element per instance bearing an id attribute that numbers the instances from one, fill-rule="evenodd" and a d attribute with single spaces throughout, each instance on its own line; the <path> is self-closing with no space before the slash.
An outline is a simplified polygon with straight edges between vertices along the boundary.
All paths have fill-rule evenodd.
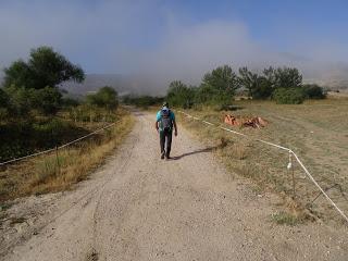
<path id="1" fill-rule="evenodd" d="M 62 150 L 0 165 L 0 201 L 58 191 L 87 177 L 132 129 L 109 86 L 73 99 L 60 84 L 85 74 L 50 47 L 33 49 L 28 61 L 4 70 L 0 88 L 0 162 L 52 149 L 111 123 L 114 126 Z"/>

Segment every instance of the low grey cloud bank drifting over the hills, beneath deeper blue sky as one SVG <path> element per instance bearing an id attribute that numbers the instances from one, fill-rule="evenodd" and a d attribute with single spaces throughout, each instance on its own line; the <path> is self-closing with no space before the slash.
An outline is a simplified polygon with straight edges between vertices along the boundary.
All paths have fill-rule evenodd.
<path id="1" fill-rule="evenodd" d="M 190 22 L 153 1 L 4 1 L 0 3 L 0 67 L 48 45 L 87 73 L 121 73 L 142 92 L 164 92 L 169 82 L 198 84 L 213 67 L 297 66 L 308 78 L 327 67 L 344 75 L 348 54 L 335 44 L 295 52 L 258 42 L 243 22 Z M 302 39 L 295 39 L 300 42 Z M 341 63 L 337 61 L 341 60 Z M 339 72 L 339 73 L 337 73 Z M 326 75 L 325 77 L 331 77 Z"/>

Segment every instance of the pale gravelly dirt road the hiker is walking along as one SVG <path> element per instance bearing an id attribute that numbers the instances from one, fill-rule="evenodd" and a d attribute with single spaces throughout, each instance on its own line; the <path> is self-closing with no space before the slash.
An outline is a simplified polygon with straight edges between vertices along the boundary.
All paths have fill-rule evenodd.
<path id="1" fill-rule="evenodd" d="M 74 191 L 18 200 L 25 225 L 3 229 L 1 260 L 347 260 L 348 231 L 279 226 L 278 199 L 234 179 L 179 129 L 159 156 L 154 115 Z M 35 217 L 34 217 L 35 216 Z"/>

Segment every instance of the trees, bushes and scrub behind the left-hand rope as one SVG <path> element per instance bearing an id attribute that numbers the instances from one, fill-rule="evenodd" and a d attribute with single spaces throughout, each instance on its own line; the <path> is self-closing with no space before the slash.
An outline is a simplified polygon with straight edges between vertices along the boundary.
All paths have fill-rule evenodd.
<path id="1" fill-rule="evenodd" d="M 63 82 L 84 79 L 83 69 L 51 47 L 33 49 L 27 61 L 4 69 L 0 161 L 59 146 L 89 133 L 98 122 L 114 121 L 119 97 L 112 87 L 82 99 L 70 98 L 61 88 Z"/>

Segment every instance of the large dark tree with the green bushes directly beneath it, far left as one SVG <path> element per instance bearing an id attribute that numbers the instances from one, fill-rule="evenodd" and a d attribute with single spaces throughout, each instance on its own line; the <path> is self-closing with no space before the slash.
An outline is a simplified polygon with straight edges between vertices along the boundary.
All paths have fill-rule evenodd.
<path id="1" fill-rule="evenodd" d="M 26 117 L 30 110 L 54 114 L 62 103 L 58 86 L 65 80 L 83 82 L 84 71 L 50 47 L 30 51 L 27 62 L 18 60 L 4 69 L 4 91 L 13 116 Z"/>

